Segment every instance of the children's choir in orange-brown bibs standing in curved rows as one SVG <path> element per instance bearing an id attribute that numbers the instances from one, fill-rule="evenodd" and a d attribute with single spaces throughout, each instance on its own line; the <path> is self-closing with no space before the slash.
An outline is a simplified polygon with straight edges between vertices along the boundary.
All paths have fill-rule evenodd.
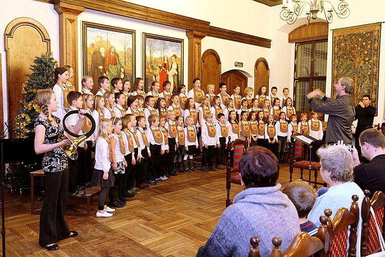
<path id="1" fill-rule="evenodd" d="M 279 98 L 276 87 L 268 95 L 267 87 L 261 86 L 254 96 L 253 88 L 246 87 L 242 93 L 236 85 L 230 96 L 227 85 L 220 83 L 218 95 L 214 94 L 213 84 L 207 85 L 205 94 L 200 79 L 195 78 L 188 94 L 187 87 L 181 84 L 173 95 L 169 81 L 162 83 L 162 93 L 159 82 L 153 81 L 146 94 L 142 78 L 136 78 L 131 87 L 129 80 L 114 78 L 110 83 L 102 76 L 93 95 L 91 77 L 81 80 L 81 94 L 69 82 L 73 72 L 68 75 L 65 71 L 64 67 L 56 68 L 52 83 L 58 105 L 83 108 L 97 124 L 93 135 L 79 146 L 78 160 L 69 160 L 68 191 L 81 197 L 86 187 L 101 187 L 98 217 L 112 216 L 113 208 L 125 205 L 124 198 L 177 176 L 177 172 L 196 171 L 192 157 L 197 151 L 199 154 L 199 149 L 202 170 L 216 171 L 225 168 L 228 140 L 239 138 L 251 146 L 264 146 L 283 163 L 292 134 L 306 134 L 319 140 L 323 136 L 322 123 L 315 112 L 309 121 L 302 113 L 297 124 L 288 88 L 283 89 Z M 56 112 L 59 118 L 64 115 L 63 109 Z M 75 115 L 68 118 L 67 127 L 75 134 L 88 132 L 91 122 L 86 118 L 79 126 L 78 119 Z M 93 167 L 91 151 L 95 153 Z"/>

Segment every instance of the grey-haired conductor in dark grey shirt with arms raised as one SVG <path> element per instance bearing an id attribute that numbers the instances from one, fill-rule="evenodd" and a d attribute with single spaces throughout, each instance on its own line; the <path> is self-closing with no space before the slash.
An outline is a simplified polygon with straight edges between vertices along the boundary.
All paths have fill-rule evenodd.
<path id="1" fill-rule="evenodd" d="M 325 142 L 331 144 L 343 140 L 345 144 L 351 144 L 353 140 L 352 123 L 356 114 L 351 96 L 353 80 L 348 77 L 341 78 L 334 87 L 337 99 L 327 98 L 325 93 L 318 88 L 307 94 L 306 97 L 309 99 L 309 106 L 316 112 L 329 115 Z"/>

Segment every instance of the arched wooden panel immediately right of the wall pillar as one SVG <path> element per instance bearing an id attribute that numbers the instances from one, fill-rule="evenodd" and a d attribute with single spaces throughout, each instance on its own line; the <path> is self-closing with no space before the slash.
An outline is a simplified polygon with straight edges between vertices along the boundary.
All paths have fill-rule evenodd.
<path id="1" fill-rule="evenodd" d="M 221 59 L 217 51 L 207 49 L 202 54 L 201 89 L 207 93 L 207 85 L 215 85 L 215 94 L 219 93 L 218 85 L 221 79 Z"/>

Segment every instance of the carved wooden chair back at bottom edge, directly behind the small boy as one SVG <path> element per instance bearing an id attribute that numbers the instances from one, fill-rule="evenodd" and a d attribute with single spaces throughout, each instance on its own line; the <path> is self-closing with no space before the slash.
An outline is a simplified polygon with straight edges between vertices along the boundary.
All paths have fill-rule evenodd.
<path id="1" fill-rule="evenodd" d="M 314 254 L 318 254 L 318 256 L 320 257 L 326 256 L 330 247 L 330 232 L 329 227 L 327 225 L 328 217 L 321 216 L 319 219 L 321 225 L 319 226 L 316 237 L 310 236 L 306 232 L 300 232 L 293 238 L 292 243 L 283 253 L 281 253 L 280 248 L 282 243 L 281 238 L 274 237 L 272 241 L 274 247 L 270 256 L 305 257 L 313 256 Z"/>

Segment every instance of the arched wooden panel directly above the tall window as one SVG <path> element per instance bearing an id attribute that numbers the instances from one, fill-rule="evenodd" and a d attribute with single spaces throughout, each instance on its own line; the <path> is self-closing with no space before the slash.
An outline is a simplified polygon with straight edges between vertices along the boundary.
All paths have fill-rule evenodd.
<path id="1" fill-rule="evenodd" d="M 327 22 L 315 22 L 295 28 L 288 34 L 289 43 L 298 43 L 320 39 L 328 39 L 329 24 Z"/>

